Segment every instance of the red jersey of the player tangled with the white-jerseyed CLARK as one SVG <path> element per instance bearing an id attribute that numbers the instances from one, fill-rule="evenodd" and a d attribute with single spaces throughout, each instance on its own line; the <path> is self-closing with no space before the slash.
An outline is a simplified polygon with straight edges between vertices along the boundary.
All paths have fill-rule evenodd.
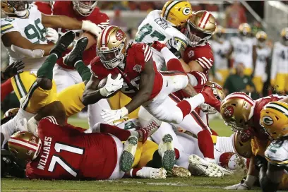
<path id="1" fill-rule="evenodd" d="M 187 47 L 184 51 L 183 60 L 186 64 L 190 61 L 197 61 L 200 66 L 203 67 L 203 73 L 205 73 L 208 79 L 208 71 L 214 64 L 214 56 L 210 44 L 205 44 L 203 46 L 199 45 L 197 47 Z M 198 85 L 195 87 L 197 92 L 200 92 L 203 85 Z"/>

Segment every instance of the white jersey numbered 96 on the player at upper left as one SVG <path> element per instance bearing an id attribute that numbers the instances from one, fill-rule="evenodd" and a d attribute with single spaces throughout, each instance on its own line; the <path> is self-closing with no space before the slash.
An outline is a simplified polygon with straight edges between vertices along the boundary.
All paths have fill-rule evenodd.
<path id="1" fill-rule="evenodd" d="M 47 44 L 46 29 L 42 25 L 41 12 L 37 7 L 30 7 L 28 18 L 2 18 L 1 19 L 1 37 L 8 32 L 20 32 L 20 34 L 33 44 Z M 37 70 L 45 61 L 46 57 L 25 58 L 23 54 L 14 52 L 11 47 L 6 47 L 10 56 L 9 64 L 14 61 L 22 60 L 25 63 L 24 71 Z"/>

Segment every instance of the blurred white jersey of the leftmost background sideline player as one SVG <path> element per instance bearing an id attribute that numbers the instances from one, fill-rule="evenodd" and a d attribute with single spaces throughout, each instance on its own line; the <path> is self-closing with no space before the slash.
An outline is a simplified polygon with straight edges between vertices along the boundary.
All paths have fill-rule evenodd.
<path id="1" fill-rule="evenodd" d="M 229 41 L 224 40 L 223 43 L 211 40 L 209 41 L 213 55 L 214 55 L 214 66 L 215 70 L 228 69 L 228 59 L 224 56 L 229 52 L 231 44 Z"/>

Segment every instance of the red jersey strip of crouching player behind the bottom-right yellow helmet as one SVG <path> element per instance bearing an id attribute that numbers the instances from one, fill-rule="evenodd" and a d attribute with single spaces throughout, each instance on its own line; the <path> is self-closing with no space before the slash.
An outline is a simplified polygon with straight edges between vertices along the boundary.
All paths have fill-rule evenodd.
<path id="1" fill-rule="evenodd" d="M 284 96 L 270 95 L 256 100 L 254 113 L 251 119 L 251 121 L 253 121 L 253 131 L 255 132 L 256 137 L 263 139 L 268 138 L 267 134 L 264 132 L 263 127 L 260 126 L 260 112 L 265 106 L 265 104 L 268 104 L 269 102 L 279 101 L 283 98 Z"/>

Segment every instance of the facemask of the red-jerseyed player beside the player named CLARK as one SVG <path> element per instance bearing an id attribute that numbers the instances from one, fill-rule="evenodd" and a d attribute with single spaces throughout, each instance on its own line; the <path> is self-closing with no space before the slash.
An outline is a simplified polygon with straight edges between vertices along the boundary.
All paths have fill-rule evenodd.
<path id="1" fill-rule="evenodd" d="M 198 30 L 193 23 L 188 22 L 187 30 L 186 30 L 186 37 L 189 39 L 189 44 L 192 47 L 197 46 L 201 42 L 209 40 L 211 34 L 205 33 L 203 31 Z"/>

